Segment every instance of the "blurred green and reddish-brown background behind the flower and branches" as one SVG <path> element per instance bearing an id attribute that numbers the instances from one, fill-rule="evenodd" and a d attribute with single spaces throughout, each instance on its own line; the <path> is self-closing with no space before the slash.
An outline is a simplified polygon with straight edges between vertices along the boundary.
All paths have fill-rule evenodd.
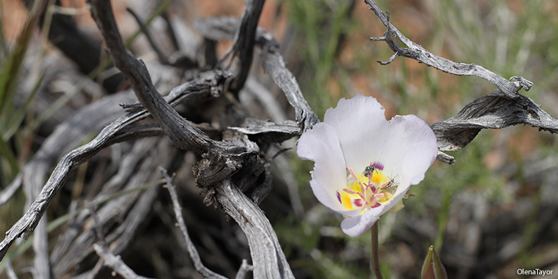
<path id="1" fill-rule="evenodd" d="M 71 14 L 79 29 L 89 38 L 100 40 L 84 1 L 60 2 L 68 8 L 63 13 Z M 193 24 L 197 18 L 239 17 L 244 8 L 241 0 L 112 2 L 125 39 L 139 29 L 126 7 L 133 8 L 146 19 L 161 3 L 169 2 L 167 17 L 176 29 L 182 28 L 175 33 L 186 32 L 194 38 L 183 45 L 201 42 Z M 0 34 L 0 66 L 4 69 L 0 89 L 22 96 L 2 103 L 5 109 L 0 111 L 3 127 L 0 186 L 6 188 L 58 123 L 83 105 L 110 94 L 110 89 L 98 86 L 103 83 L 98 76 L 84 81 L 86 75 L 80 72 L 80 67 L 54 46 L 56 38 L 47 40 L 39 29 L 29 32 L 29 47 L 27 52 L 22 50 L 20 69 L 16 72 L 5 70 L 13 69 L 8 57 L 19 50 L 14 47 L 15 42 L 25 33 L 24 22 L 29 12 L 23 1 L 1 0 L 0 3 L 3 32 Z M 433 54 L 455 62 L 476 63 L 506 79 L 520 75 L 534 82 L 529 92 L 520 93 L 542 105 L 551 116 L 558 117 L 558 1 L 394 0 L 377 3 L 384 11 L 389 10 L 391 22 L 407 38 Z M 380 66 L 376 61 L 386 61 L 392 53 L 385 43 L 370 41 L 371 36 L 382 36 L 385 27 L 363 1 L 267 0 L 259 25 L 273 33 L 280 43 L 287 68 L 296 76 L 306 100 L 320 119 L 340 98 L 363 93 L 382 103 L 388 119 L 395 114 L 416 114 L 432 124 L 455 115 L 467 103 L 495 90 L 492 84 L 477 77 L 448 75 L 401 57 L 388 66 Z M 163 51 L 172 54 L 172 47 L 168 46 L 172 45 L 169 43 L 172 38 L 165 36 L 167 25 L 162 17 L 156 17 L 149 28 Z M 218 57 L 230 43 L 218 42 Z M 143 35 L 131 43 L 130 50 L 148 66 L 150 61 L 156 61 Z M 190 51 L 188 55 L 197 55 L 195 49 Z M 86 55 L 89 54 L 82 53 Z M 95 55 L 106 59 L 104 52 Z M 252 77 L 275 96 L 285 117 L 294 119 L 294 112 L 282 92 L 263 73 L 257 58 L 255 60 Z M 45 69 L 44 78 L 49 83 L 33 91 Z M 176 73 L 169 75 L 169 69 L 155 69 L 159 74 L 151 74 L 160 79 L 162 88 L 167 84 L 166 92 L 184 80 Z M 48 73 L 53 72 L 56 74 L 50 77 Z M 10 88 L 4 86 L 6 80 L 17 82 Z M 112 88 L 119 91 L 126 89 L 126 84 L 117 83 Z M 28 100 L 26 96 L 35 91 L 38 92 L 36 98 Z M 164 89 L 160 91 L 166 93 Z M 75 93 L 70 96 L 69 92 Z M 66 99 L 61 100 L 63 98 Z M 241 95 L 241 98 L 250 99 L 250 94 Z M 21 107 L 24 113 L 18 110 Z M 254 105 L 247 110 L 259 119 L 271 118 L 259 107 Z M 16 126 L 10 120 L 12 116 L 21 118 Z M 90 135 L 89 139 L 95 135 Z M 283 146 L 294 147 L 294 141 Z M 59 193 L 60 201 L 50 206 L 49 220 L 68 214 L 69 202 L 65 200 L 82 203 L 90 197 L 88 191 L 93 190 L 86 189 L 91 183 L 100 183 L 93 174 L 103 174 L 98 169 L 103 164 L 110 165 L 114 159 L 111 152 L 99 153 L 75 171 Z M 431 245 L 439 253 L 449 278 L 528 277 L 519 276 L 518 269 L 553 270 L 552 276 L 545 278 L 558 278 L 557 136 L 529 126 L 482 130 L 471 144 L 449 155 L 455 157 L 455 165 L 437 161 L 424 181 L 412 186 L 409 193 L 416 197 L 405 200 L 405 209 L 386 213 L 379 221 L 384 278 L 419 278 L 423 259 Z M 186 154 L 183 160 L 187 162 L 184 163 L 186 167 L 178 168 L 175 182 L 183 188 L 183 204 L 190 202 L 194 206 L 189 211 L 190 220 L 186 220 L 190 234 L 194 234 L 199 249 L 206 251 L 208 257 L 215 250 L 223 251 L 220 257 L 227 259 L 232 267 L 207 264 L 210 269 L 213 267 L 228 275 L 227 272 L 238 268 L 242 257 L 247 257 L 248 247 L 239 240 L 244 252 L 234 255 L 227 252 L 233 248 L 213 248 L 208 244 L 213 242 L 204 240 L 201 229 L 196 232 L 204 224 L 200 219 L 205 219 L 199 215 L 209 214 L 215 221 L 206 220 L 211 223 L 209 225 L 228 226 L 231 234 L 241 234 L 234 222 L 223 225 L 225 218 L 215 217 L 223 215 L 219 209 L 202 206 L 204 196 L 199 195 L 199 189 L 193 185 L 191 172 L 188 174 L 188 167 L 195 158 Z M 296 278 L 373 278 L 370 234 L 352 238 L 341 232 L 342 216 L 319 204 L 312 195 L 308 183 L 311 169 L 312 163 L 299 160 L 294 150 L 279 156 L 272 164 L 273 190 L 260 204 L 276 230 Z M 82 185 L 83 193 L 72 190 L 76 183 Z M 1 232 L 6 232 L 24 212 L 25 197 L 21 192 L 1 206 Z M 168 203 L 165 197 L 160 198 L 163 205 Z M 200 213 L 202 211 L 211 213 Z M 123 259 L 140 275 L 197 278 L 195 272 L 176 271 L 174 267 L 187 265 L 183 263 L 187 260 L 179 262 L 176 255 L 169 252 L 170 248 L 165 248 L 165 241 L 169 241 L 165 238 L 169 236 L 158 228 L 161 222 L 153 220 L 157 218 L 160 218 L 158 213 L 146 218 L 144 230 L 136 233 L 136 244 L 130 244 Z M 67 226 L 62 224 L 52 229 L 50 243 L 55 243 Z M 210 235 L 210 238 L 217 238 L 215 234 Z M 155 250 L 138 247 L 137 241 L 141 240 L 157 243 L 153 245 Z M 213 244 L 223 246 L 219 241 Z M 33 264 L 31 249 L 11 257 L 20 278 L 31 278 L 24 269 Z M 76 269 L 82 268 L 68 269 L 64 277 L 70 278 L 79 272 Z M 0 273 L 0 278 L 6 278 L 6 273 Z"/>

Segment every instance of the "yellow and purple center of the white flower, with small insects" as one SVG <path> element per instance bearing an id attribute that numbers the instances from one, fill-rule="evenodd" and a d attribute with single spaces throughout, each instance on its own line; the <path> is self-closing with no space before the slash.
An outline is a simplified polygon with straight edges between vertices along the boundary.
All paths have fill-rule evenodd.
<path id="1" fill-rule="evenodd" d="M 361 209 L 361 214 L 378 207 L 393 197 L 397 184 L 383 172 L 384 166 L 370 163 L 356 174 L 348 169 L 347 187 L 338 191 L 339 202 L 347 210 Z"/>

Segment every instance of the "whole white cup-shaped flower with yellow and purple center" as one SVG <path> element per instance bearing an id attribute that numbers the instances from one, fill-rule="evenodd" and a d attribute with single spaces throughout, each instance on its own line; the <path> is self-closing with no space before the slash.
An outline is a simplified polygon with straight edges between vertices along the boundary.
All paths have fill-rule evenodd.
<path id="1" fill-rule="evenodd" d="M 297 154 L 314 161 L 310 186 L 319 202 L 346 218 L 349 236 L 366 232 L 382 214 L 403 208 L 412 184 L 437 156 L 436 136 L 414 115 L 390 121 L 375 98 L 341 99 L 324 122 L 301 135 Z"/>

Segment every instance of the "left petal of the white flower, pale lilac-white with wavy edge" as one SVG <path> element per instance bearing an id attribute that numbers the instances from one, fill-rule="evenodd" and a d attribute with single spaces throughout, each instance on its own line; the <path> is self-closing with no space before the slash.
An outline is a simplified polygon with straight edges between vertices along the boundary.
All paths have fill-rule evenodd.
<path id="1" fill-rule="evenodd" d="M 303 133 L 296 154 L 301 159 L 314 161 L 310 186 L 319 202 L 335 211 L 347 211 L 337 198 L 338 190 L 347 184 L 347 172 L 333 127 L 317 123 L 312 130 Z"/>

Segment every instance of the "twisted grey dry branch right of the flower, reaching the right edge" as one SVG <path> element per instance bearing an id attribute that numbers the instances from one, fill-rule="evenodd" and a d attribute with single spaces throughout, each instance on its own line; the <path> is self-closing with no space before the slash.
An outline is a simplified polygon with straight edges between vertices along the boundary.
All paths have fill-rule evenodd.
<path id="1" fill-rule="evenodd" d="M 488 80 L 496 86 L 497 90 L 478 98 L 466 105 L 458 114 L 432 124 L 438 141 L 438 160 L 453 164 L 455 159 L 442 151 L 458 151 L 471 142 L 481 129 L 500 129 L 517 124 L 528 124 L 538 127 L 539 130 L 548 130 L 550 133 L 558 132 L 558 120 L 552 118 L 541 109 L 530 98 L 522 96 L 519 91 L 529 91 L 532 82 L 523 77 L 511 77 L 510 81 L 500 77 L 490 70 L 475 64 L 455 63 L 451 60 L 436 56 L 425 50 L 420 45 L 412 42 L 389 22 L 389 15 L 384 12 L 372 0 L 365 0 L 370 10 L 382 20 L 387 31 L 381 38 L 372 37 L 372 40 L 385 41 L 394 54 L 389 61 L 382 65 L 391 63 L 397 56 L 415 59 L 420 63 L 442 70 L 453 75 L 474 75 Z M 407 48 L 397 45 L 391 36 L 404 43 Z"/>

